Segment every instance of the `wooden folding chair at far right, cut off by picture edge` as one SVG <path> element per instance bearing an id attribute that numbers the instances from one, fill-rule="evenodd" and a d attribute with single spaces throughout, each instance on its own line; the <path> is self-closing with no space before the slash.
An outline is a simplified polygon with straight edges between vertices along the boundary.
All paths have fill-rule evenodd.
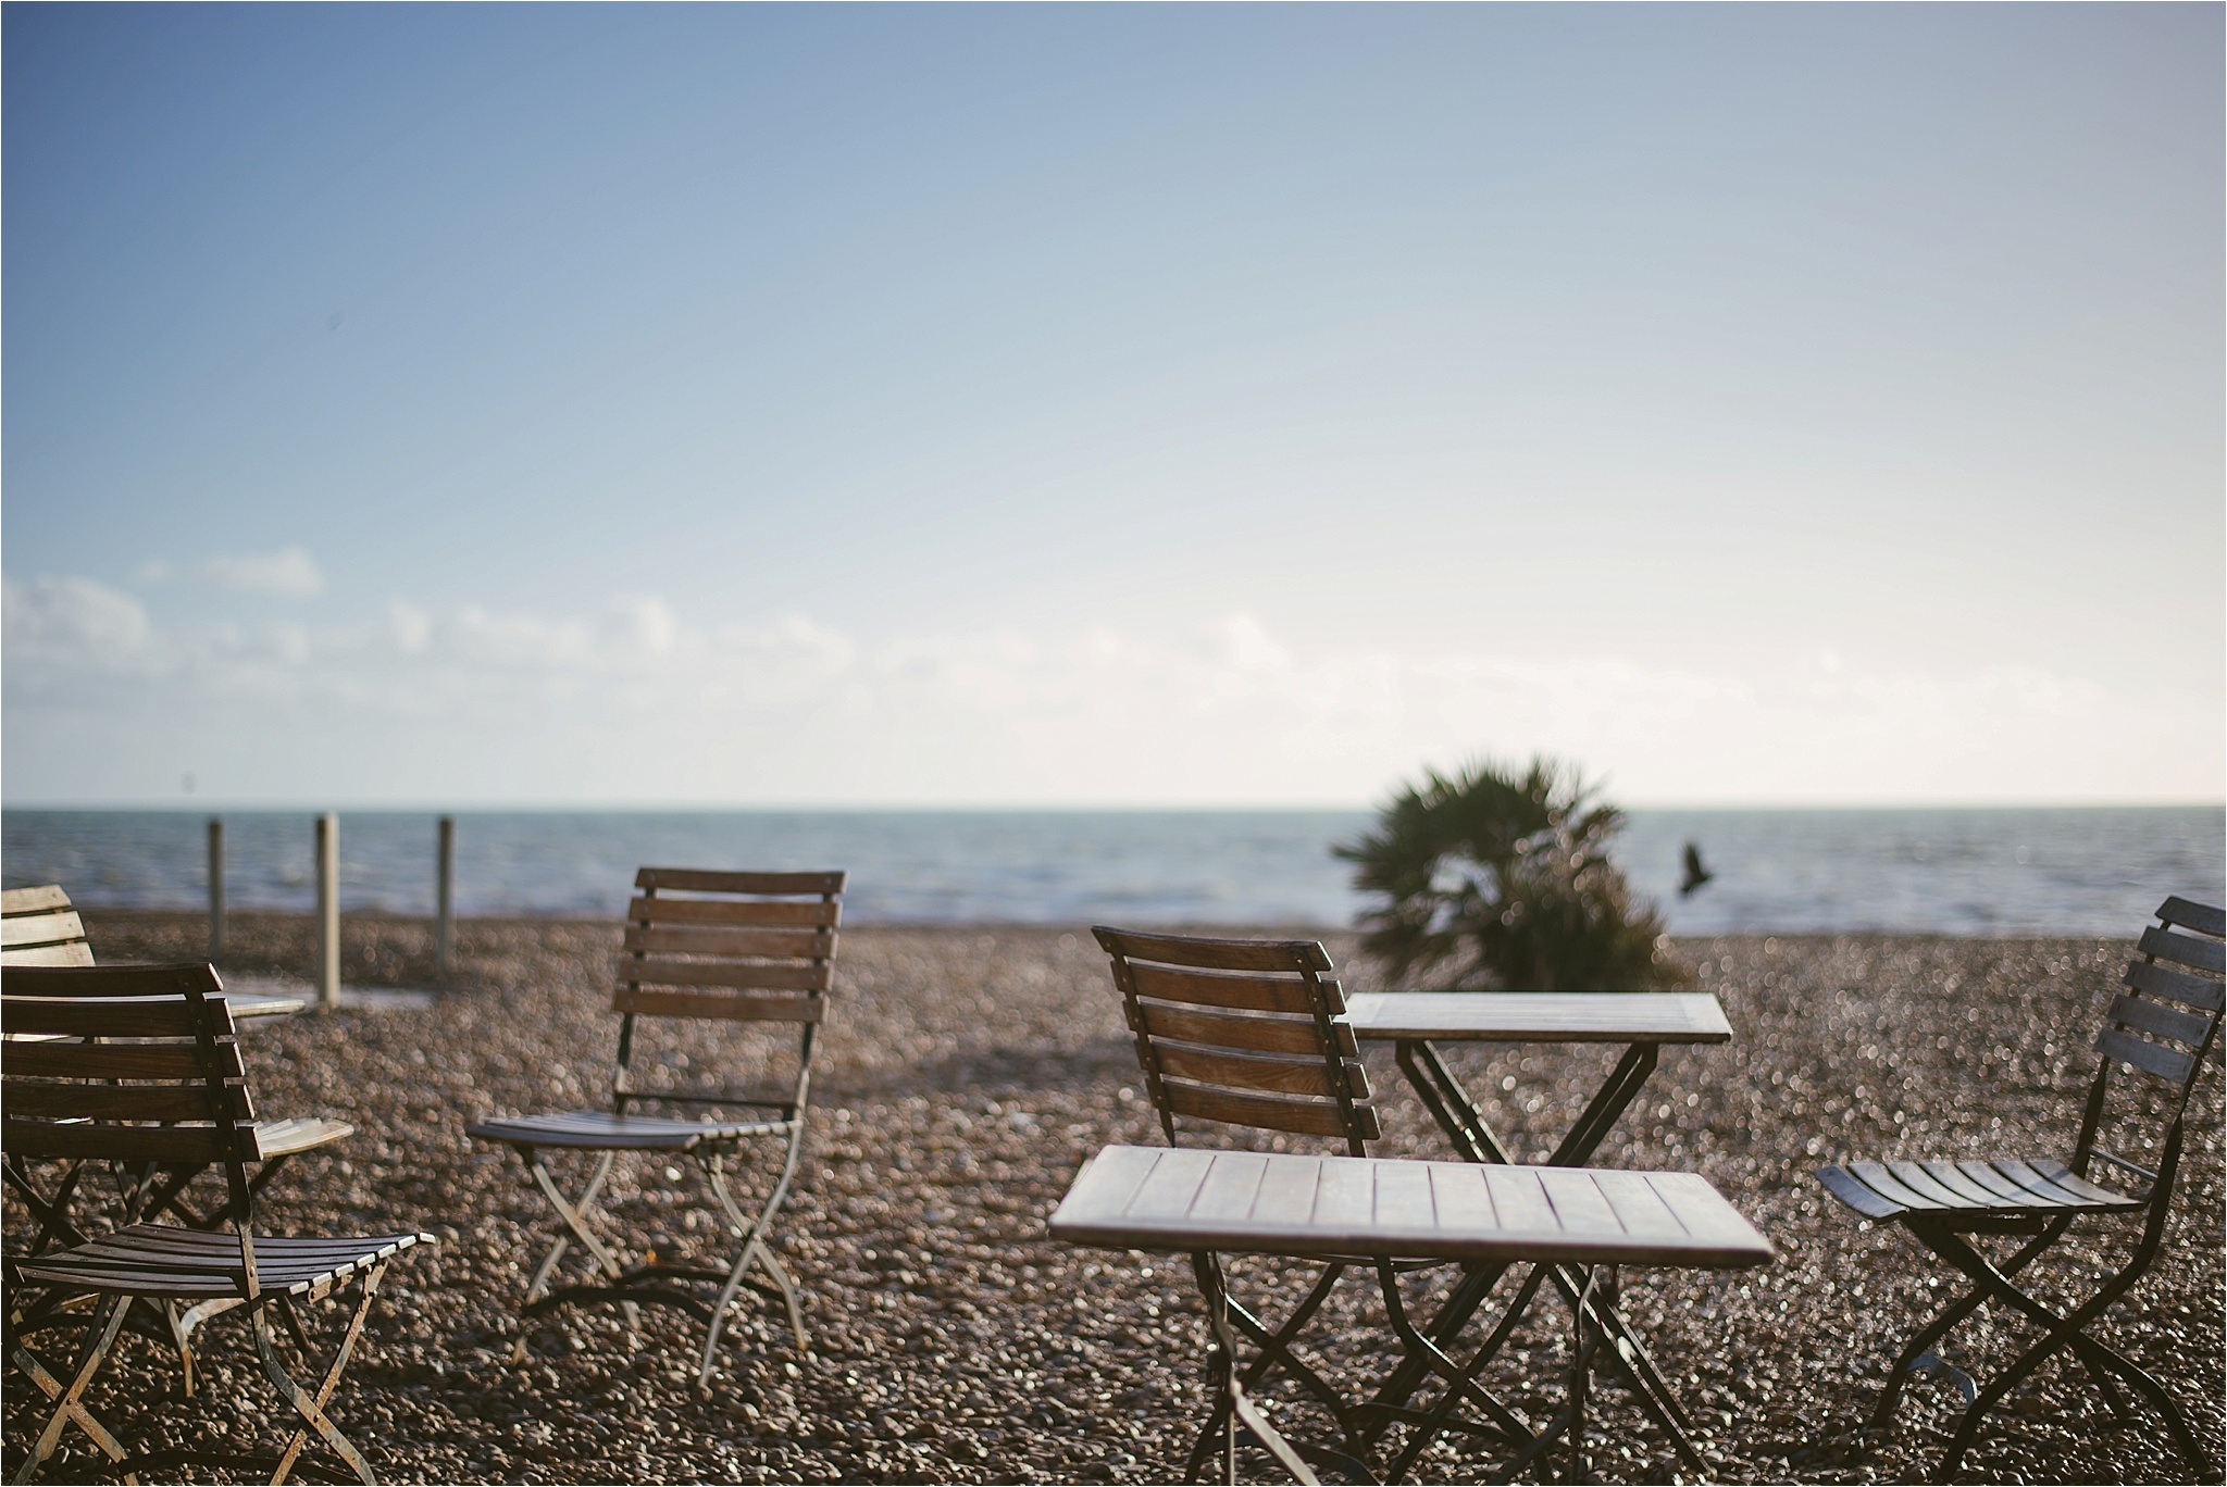
<path id="1" fill-rule="evenodd" d="M 2216 1055 L 2223 1004 L 2223 935 L 2227 915 L 2207 904 L 2171 897 L 2158 908 L 2158 924 L 2142 930 L 2136 959 L 2127 966 L 2125 995 L 2111 1002 L 2105 1026 L 2096 1035 L 2102 1064 L 2089 1084 L 2080 1138 L 2069 1162 L 2051 1158 L 1998 1158 L 1984 1162 L 1846 1162 L 1819 1166 L 1817 1180 L 1844 1204 L 1877 1222 L 1902 1224 L 1913 1240 L 1937 1253 L 1973 1282 L 1971 1291 L 1951 1298 L 1931 1322 L 1902 1349 L 1880 1405 L 1871 1414 L 1873 1429 L 1884 1427 L 1895 1411 L 1902 1385 L 1920 1358 L 1949 1329 L 1980 1309 L 1982 1302 L 2004 1304 L 2042 1327 L 2042 1338 L 2020 1353 L 1964 1409 L 1937 1476 L 1955 1471 L 1986 1414 L 2029 1378 L 2042 1362 L 2071 1349 L 2087 1365 L 2096 1387 L 2113 1414 L 2127 1416 L 2127 1400 L 2111 1382 L 2131 1385 L 2165 1416 L 2174 1449 L 2196 1471 L 2198 1480 L 2218 1480 L 2218 1465 L 2189 1429 L 2180 1407 L 2165 1387 L 2129 1362 L 2122 1353 L 2087 1333 L 2111 1302 L 2125 1296 L 2165 1240 L 2165 1220 L 2174 1200 L 2174 1178 L 2180 1171 L 2182 1122 L 2189 1095 L 2203 1064 Z M 2142 1166 L 2120 1153 L 2105 1151 L 2107 1095 L 2120 1066 L 2165 1084 L 2171 1120 L 2165 1126 L 2158 1166 Z M 2131 1135 L 2131 1120 L 2118 1126 Z M 2131 1193 L 2093 1182 L 2096 1169 L 2109 1166 L 2133 1182 Z M 2013 1276 L 2042 1258 L 2076 1222 L 2091 1218 L 2142 1218 L 2140 1238 L 2127 1262 L 2096 1293 L 2071 1311 L 2051 1311 Z M 1989 1258 L 1973 1240 L 2013 1235 L 2022 1244 L 2004 1260 Z"/>

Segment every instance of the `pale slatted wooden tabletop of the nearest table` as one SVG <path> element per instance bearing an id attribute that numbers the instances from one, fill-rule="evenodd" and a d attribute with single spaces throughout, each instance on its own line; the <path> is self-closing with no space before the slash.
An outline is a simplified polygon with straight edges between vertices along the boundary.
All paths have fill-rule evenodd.
<path id="1" fill-rule="evenodd" d="M 1107 1146 L 1051 1215 L 1105 1249 L 1735 1269 L 1770 1240 L 1695 1173 Z"/>

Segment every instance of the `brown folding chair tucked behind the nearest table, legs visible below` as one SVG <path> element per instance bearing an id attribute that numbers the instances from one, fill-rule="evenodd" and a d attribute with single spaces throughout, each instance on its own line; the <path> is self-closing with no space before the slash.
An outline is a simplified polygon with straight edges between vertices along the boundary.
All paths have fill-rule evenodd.
<path id="1" fill-rule="evenodd" d="M 1107 926 L 1091 933 L 1114 962 L 1114 984 L 1120 986 L 1122 1008 L 1136 1035 L 1136 1057 L 1169 1146 L 1180 1144 L 1176 1120 L 1185 1117 L 1330 1138 L 1343 1142 L 1345 1155 L 1367 1155 L 1367 1142 L 1381 1135 L 1376 1106 L 1352 1028 L 1338 1022 L 1345 999 L 1330 953 L 1321 944 L 1198 939 Z M 1285 1258 L 1321 1264 L 1323 1273 L 1285 1322 L 1272 1329 L 1256 1309 L 1232 1296 L 1227 1269 L 1216 1251 L 1191 1253 L 1191 1271 L 1214 1331 L 1216 1400 L 1185 1463 L 1189 1480 L 1198 1480 L 1198 1471 L 1216 1449 L 1225 1474 L 1236 1480 L 1238 1431 L 1249 1434 L 1301 1480 L 1314 1480 L 1301 1465 L 1305 1460 L 1374 1480 L 1363 1458 L 1387 1418 L 1428 1425 L 1432 1434 L 1461 1429 L 1519 1447 L 1534 1442 L 1537 1431 L 1485 1394 L 1472 1371 L 1448 1358 L 1407 1320 L 1399 1276 L 1443 1260 L 1325 1258 L 1307 1251 Z M 1436 1409 L 1425 1414 L 1350 1402 L 1294 1351 L 1341 1276 L 1356 1267 L 1376 1273 L 1387 1320 L 1407 1356 L 1425 1360 L 1445 1382 L 1450 1394 L 1441 1396 Z M 1232 1329 L 1256 1349 L 1243 1369 Z M 1260 1418 L 1249 1396 L 1274 1371 L 1296 1380 L 1330 1411 L 1345 1438 L 1343 1451 L 1294 1447 Z M 1454 1402 L 1477 1405 L 1483 1420 L 1456 1418 Z"/>

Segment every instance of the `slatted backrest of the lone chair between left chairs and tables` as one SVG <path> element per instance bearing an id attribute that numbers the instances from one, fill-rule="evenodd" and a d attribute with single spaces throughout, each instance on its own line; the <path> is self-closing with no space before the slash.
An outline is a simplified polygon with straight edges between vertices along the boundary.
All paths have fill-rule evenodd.
<path id="1" fill-rule="evenodd" d="M 615 1102 L 755 1104 L 730 1091 L 637 1091 L 637 1017 L 799 1024 L 797 1100 L 811 1077 L 813 1028 L 826 1017 L 844 873 L 641 868 L 626 906 L 626 944 L 610 1004 L 624 1013 Z"/>

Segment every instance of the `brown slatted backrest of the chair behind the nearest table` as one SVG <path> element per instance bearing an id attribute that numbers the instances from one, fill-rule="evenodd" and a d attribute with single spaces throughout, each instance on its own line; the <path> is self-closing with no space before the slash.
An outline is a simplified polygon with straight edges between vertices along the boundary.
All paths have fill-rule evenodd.
<path id="1" fill-rule="evenodd" d="M 1096 926 L 1114 959 L 1136 1060 L 1176 1142 L 1176 1117 L 1343 1138 L 1383 1135 L 1361 1046 L 1338 1022 L 1330 951 L 1312 939 L 1200 939 Z"/>

